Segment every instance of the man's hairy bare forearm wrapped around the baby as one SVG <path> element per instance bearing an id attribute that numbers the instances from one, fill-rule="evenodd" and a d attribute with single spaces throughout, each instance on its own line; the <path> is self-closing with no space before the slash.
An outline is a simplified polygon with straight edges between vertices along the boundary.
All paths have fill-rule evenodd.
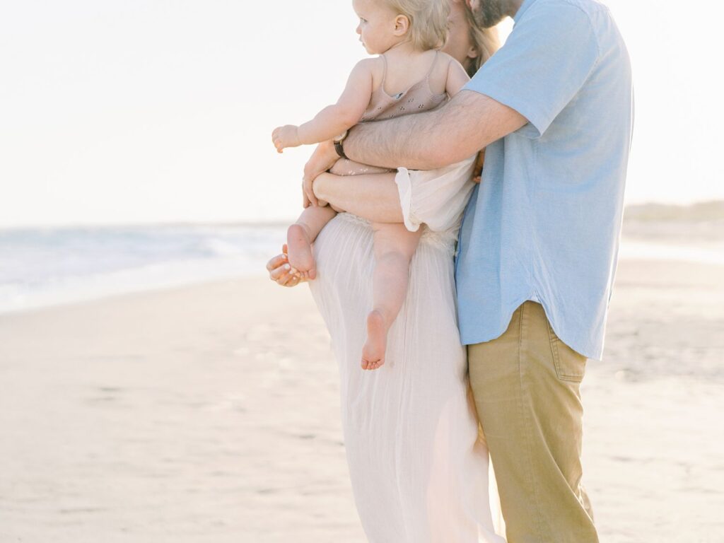
<path id="1" fill-rule="evenodd" d="M 463 90 L 434 111 L 356 125 L 345 139 L 345 154 L 362 164 L 435 169 L 472 156 L 527 122 L 489 96 Z"/>

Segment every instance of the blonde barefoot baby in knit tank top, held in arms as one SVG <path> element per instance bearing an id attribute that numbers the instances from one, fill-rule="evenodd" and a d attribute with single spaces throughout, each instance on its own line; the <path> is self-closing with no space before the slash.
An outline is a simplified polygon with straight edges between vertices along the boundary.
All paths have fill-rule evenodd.
<path id="1" fill-rule="evenodd" d="M 287 147 L 340 138 L 359 122 L 434 109 L 468 82 L 463 67 L 438 50 L 447 37 L 448 0 L 353 0 L 352 4 L 363 46 L 379 56 L 358 62 L 337 104 L 303 125 L 275 129 L 272 140 L 279 153 Z M 338 175 L 391 171 L 348 159 L 338 160 L 331 169 Z M 311 206 L 289 228 L 289 263 L 301 277 L 316 277 L 311 244 L 335 214 L 329 206 Z M 405 301 L 409 266 L 421 235 L 421 230 L 411 232 L 404 224 L 373 223 L 372 230 L 373 307 L 367 316 L 363 369 L 384 364 L 387 332 Z"/>

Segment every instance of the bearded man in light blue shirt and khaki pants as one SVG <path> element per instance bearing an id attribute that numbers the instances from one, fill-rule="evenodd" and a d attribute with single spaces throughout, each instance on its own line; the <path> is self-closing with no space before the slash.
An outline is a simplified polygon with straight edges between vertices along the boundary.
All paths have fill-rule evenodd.
<path id="1" fill-rule="evenodd" d="M 482 27 L 506 16 L 515 26 L 466 89 L 437 111 L 355 127 L 337 151 L 321 145 L 306 177 L 338 151 L 434 169 L 486 148 L 455 277 L 508 541 L 598 542 L 581 486 L 579 386 L 586 358 L 602 357 L 618 253 L 633 121 L 628 53 L 596 0 L 468 4 Z M 344 191 L 325 177 L 309 198 L 335 202 Z"/>

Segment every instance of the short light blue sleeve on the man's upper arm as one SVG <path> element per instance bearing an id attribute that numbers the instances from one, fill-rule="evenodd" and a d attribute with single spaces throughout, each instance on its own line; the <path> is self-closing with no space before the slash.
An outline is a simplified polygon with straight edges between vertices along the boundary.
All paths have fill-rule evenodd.
<path id="1" fill-rule="evenodd" d="M 466 85 L 515 109 L 539 138 L 586 83 L 599 58 L 589 16 L 565 1 L 538 1 Z"/>

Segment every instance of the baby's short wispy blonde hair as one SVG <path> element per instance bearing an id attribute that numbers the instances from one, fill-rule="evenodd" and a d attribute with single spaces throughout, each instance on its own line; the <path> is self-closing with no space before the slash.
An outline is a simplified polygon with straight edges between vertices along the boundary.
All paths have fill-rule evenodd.
<path id="1" fill-rule="evenodd" d="M 383 0 L 410 21 L 409 39 L 415 49 L 438 49 L 447 40 L 449 0 Z"/>

